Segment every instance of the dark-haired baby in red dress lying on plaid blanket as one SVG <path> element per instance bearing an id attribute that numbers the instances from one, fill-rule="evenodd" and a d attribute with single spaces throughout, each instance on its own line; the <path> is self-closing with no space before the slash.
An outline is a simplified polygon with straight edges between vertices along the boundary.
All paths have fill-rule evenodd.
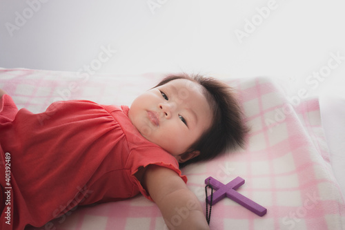
<path id="1" fill-rule="evenodd" d="M 139 193 L 169 229 L 209 229 L 179 166 L 243 146 L 247 131 L 232 89 L 201 75 L 170 75 L 130 108 L 74 100 L 33 114 L 0 90 L 0 161 L 10 162 L 0 165 L 1 229 L 52 228 L 77 205 Z M 186 208 L 186 218 L 171 221 Z"/>

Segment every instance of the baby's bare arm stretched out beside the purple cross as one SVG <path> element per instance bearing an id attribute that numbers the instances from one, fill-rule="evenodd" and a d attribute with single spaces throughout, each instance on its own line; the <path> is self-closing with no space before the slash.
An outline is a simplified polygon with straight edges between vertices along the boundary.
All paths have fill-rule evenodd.
<path id="1" fill-rule="evenodd" d="M 175 171 L 150 165 L 144 186 L 169 229 L 209 229 L 199 200 Z"/>

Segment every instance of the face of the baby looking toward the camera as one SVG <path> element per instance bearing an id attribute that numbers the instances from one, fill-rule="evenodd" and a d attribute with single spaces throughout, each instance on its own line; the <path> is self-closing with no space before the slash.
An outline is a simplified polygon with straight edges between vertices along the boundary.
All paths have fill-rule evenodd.
<path id="1" fill-rule="evenodd" d="M 212 123 L 202 86 L 175 79 L 137 97 L 128 113 L 147 140 L 175 157 L 185 153 Z"/>

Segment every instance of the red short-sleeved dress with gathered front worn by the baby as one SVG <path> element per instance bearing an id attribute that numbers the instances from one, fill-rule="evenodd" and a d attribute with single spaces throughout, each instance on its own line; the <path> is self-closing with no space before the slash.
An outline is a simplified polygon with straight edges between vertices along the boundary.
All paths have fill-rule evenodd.
<path id="1" fill-rule="evenodd" d="M 128 111 L 127 106 L 79 100 L 55 102 L 46 112 L 33 114 L 18 111 L 12 98 L 3 95 L 1 229 L 41 227 L 76 205 L 138 193 L 152 200 L 134 175 L 140 166 L 165 166 L 186 182 L 175 157 L 142 137 Z"/>

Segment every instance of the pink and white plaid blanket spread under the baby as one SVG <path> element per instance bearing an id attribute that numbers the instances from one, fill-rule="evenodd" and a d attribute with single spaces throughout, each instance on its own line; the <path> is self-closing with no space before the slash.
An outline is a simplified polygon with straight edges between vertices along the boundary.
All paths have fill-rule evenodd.
<path id="1" fill-rule="evenodd" d="M 104 75 L 0 69 L 0 88 L 19 108 L 44 111 L 57 100 L 90 99 L 130 105 L 164 75 Z M 205 205 L 204 180 L 223 184 L 240 176 L 237 191 L 267 209 L 259 217 L 228 198 L 212 208 L 211 229 L 345 229 L 345 205 L 333 176 L 317 99 L 288 98 L 286 86 L 265 77 L 226 79 L 234 86 L 251 127 L 245 150 L 186 166 L 188 187 Z M 172 226 L 174 221 L 172 220 Z M 167 229 L 159 209 L 139 195 L 78 207 L 41 228 Z"/>

